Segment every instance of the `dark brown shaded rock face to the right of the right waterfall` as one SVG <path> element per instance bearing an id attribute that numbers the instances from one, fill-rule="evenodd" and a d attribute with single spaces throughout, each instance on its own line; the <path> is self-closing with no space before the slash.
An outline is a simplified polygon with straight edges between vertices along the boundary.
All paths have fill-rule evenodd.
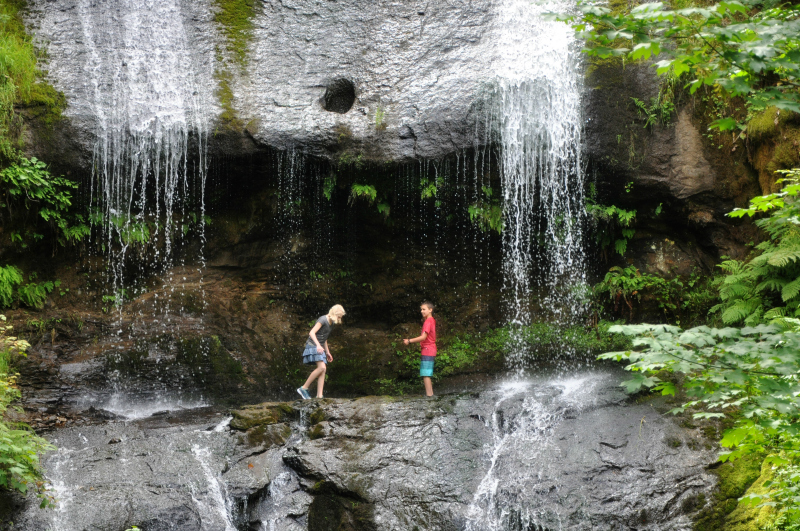
<path id="1" fill-rule="evenodd" d="M 586 157 L 600 201 L 637 211 L 627 258 L 660 275 L 711 272 L 719 257 L 742 259 L 756 237 L 748 222 L 725 215 L 760 193 L 745 149 L 707 130 L 707 98 L 676 90 L 666 123 L 646 124 L 659 95 L 644 63 L 592 63 L 586 76 Z"/>

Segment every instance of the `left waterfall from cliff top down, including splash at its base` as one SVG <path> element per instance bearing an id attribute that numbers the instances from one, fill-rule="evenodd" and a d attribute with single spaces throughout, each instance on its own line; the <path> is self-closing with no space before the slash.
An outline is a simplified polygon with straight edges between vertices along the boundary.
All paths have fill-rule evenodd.
<path id="1" fill-rule="evenodd" d="M 117 308 L 121 323 L 123 301 L 152 291 L 133 326 L 167 332 L 182 309 L 180 296 L 192 290 L 202 298 L 203 292 L 207 141 L 215 107 L 196 81 L 210 75 L 209 65 L 197 64 L 194 36 L 184 24 L 190 8 L 178 0 L 78 0 L 74 9 L 82 39 L 69 46 L 82 58 L 83 75 L 70 81 L 87 97 L 70 112 L 93 120 L 92 174 L 83 200 L 92 244 L 105 259 L 102 305 L 112 315 Z M 189 273 L 194 278 L 187 281 Z M 153 274 L 161 282 L 150 282 Z M 129 345 L 121 326 L 114 331 L 120 354 L 111 357 L 121 365 Z M 127 418 L 203 404 L 167 396 L 160 378 L 140 379 L 148 380 L 142 385 L 118 371 L 108 374 L 112 396 L 82 402 L 99 400 Z"/>

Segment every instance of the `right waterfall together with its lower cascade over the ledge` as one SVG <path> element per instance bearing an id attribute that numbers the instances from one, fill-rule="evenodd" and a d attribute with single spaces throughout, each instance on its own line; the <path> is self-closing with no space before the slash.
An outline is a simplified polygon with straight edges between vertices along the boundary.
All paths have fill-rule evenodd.
<path id="1" fill-rule="evenodd" d="M 571 28 L 543 17 L 570 6 L 506 0 L 498 20 L 492 125 L 500 144 L 503 289 L 512 327 L 506 362 L 518 373 L 528 359 L 524 327 L 534 313 L 565 324 L 582 309 L 579 50 Z M 466 531 L 562 527 L 557 513 L 531 503 L 540 490 L 542 498 L 559 496 L 557 484 L 541 485 L 547 464 L 537 457 L 564 412 L 591 402 L 591 380 L 554 381 L 533 393 L 529 382 L 519 380 L 501 387 L 490 421 L 489 468 L 469 507 Z M 520 411 L 513 422 L 505 408 Z"/>

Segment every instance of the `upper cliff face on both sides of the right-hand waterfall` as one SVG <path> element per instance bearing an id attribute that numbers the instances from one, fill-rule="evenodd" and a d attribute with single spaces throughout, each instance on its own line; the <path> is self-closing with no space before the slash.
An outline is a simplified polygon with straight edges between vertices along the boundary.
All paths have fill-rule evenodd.
<path id="1" fill-rule="evenodd" d="M 31 2 L 49 79 L 69 104 L 54 131 L 31 128 L 31 151 L 85 172 L 115 128 L 205 134 L 217 159 L 276 148 L 334 162 L 440 160 L 490 141 L 500 3 L 261 1 L 234 21 L 225 6 Z M 586 161 L 603 200 L 638 206 L 637 266 L 710 271 L 747 254 L 752 228 L 725 213 L 760 191 L 758 175 L 744 149 L 723 153 L 706 134 L 699 96 L 671 123 L 643 127 L 632 98 L 649 104 L 658 90 L 648 65 L 587 63 Z M 759 164 L 769 149 L 754 151 Z"/>

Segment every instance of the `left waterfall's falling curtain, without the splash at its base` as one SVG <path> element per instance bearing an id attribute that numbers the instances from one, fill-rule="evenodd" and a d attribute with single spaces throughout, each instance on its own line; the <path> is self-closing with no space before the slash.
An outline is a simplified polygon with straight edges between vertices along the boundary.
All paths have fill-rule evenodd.
<path id="1" fill-rule="evenodd" d="M 106 298 L 119 305 L 126 259 L 136 259 L 139 276 L 164 271 L 191 233 L 202 264 L 209 102 L 178 0 L 79 0 L 76 9 L 96 120 L 93 238 L 109 259 Z"/>

